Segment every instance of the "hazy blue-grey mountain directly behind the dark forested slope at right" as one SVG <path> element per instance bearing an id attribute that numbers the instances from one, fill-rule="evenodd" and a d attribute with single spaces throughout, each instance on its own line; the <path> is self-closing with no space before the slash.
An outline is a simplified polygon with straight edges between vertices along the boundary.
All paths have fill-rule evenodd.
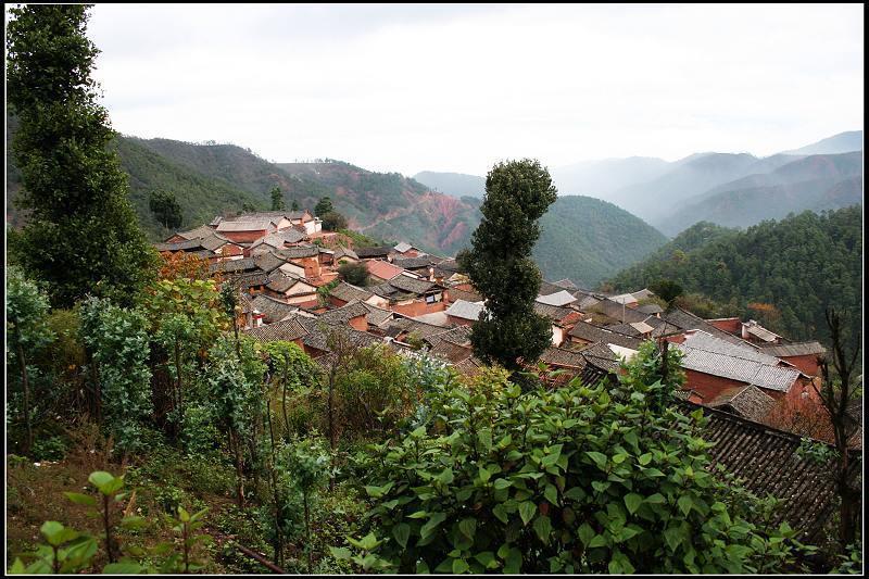
<path id="1" fill-rule="evenodd" d="M 770 173 L 742 177 L 692 198 L 658 227 L 676 235 L 701 221 L 747 227 L 806 209 L 862 202 L 862 153 L 797 158 Z"/>

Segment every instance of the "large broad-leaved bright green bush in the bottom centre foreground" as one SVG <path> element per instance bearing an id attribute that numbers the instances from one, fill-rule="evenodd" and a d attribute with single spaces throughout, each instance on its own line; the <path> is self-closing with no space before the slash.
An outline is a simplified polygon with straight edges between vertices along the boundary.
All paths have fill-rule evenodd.
<path id="1" fill-rule="evenodd" d="M 373 445 L 365 570 L 765 572 L 798 543 L 707 471 L 701 413 L 648 404 L 660 383 L 572 380 L 522 394 L 436 388 L 426 426 Z M 347 549 L 337 555 L 351 557 Z"/>

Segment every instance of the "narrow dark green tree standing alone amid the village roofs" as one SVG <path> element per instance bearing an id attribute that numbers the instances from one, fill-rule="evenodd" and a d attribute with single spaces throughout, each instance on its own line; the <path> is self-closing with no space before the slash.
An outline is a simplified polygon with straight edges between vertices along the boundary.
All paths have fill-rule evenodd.
<path id="1" fill-rule="evenodd" d="M 531 250 L 540 237 L 538 219 L 555 202 L 549 172 L 529 159 L 495 165 L 486 177 L 482 221 L 462 265 L 486 298 L 474 324 L 474 353 L 486 363 L 517 370 L 552 343 L 546 318 L 534 313 L 540 270 Z"/>

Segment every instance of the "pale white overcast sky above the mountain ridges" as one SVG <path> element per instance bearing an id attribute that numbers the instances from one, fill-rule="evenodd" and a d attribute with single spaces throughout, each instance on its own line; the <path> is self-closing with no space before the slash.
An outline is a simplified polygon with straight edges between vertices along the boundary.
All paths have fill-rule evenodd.
<path id="1" fill-rule="evenodd" d="M 484 175 L 861 129 L 862 10 L 97 4 L 88 36 L 124 134 Z"/>

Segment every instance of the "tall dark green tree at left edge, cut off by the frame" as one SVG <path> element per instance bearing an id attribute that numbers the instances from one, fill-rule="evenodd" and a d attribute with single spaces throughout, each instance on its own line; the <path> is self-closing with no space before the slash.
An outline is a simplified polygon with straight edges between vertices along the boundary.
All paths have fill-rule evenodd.
<path id="1" fill-rule="evenodd" d="M 129 304 L 153 275 L 156 253 L 127 200 L 127 176 L 91 78 L 97 47 L 88 5 L 10 10 L 7 95 L 20 126 L 12 150 L 27 225 L 10 237 L 12 260 L 68 307 L 92 293 Z"/>

